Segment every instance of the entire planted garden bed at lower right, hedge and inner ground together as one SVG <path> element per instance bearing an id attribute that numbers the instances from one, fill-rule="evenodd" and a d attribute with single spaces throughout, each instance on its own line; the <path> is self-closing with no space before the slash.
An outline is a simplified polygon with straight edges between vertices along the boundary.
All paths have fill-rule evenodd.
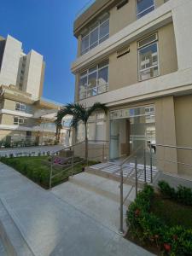
<path id="1" fill-rule="evenodd" d="M 165 190 L 164 185 L 160 186 L 160 193 L 154 193 L 154 189 L 146 185 L 131 203 L 127 211 L 126 238 L 157 255 L 192 255 L 192 190 L 169 186 L 170 189 Z M 174 193 L 167 194 L 171 190 Z M 181 203 L 181 194 L 185 196 L 184 203 Z"/>

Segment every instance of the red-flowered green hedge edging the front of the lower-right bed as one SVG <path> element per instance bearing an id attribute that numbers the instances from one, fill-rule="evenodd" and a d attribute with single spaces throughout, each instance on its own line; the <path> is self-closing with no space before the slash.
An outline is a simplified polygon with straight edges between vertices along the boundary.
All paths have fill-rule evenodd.
<path id="1" fill-rule="evenodd" d="M 129 234 L 143 245 L 150 243 L 164 255 L 192 255 L 192 229 L 170 226 L 151 212 L 154 189 L 145 185 L 127 211 Z"/>

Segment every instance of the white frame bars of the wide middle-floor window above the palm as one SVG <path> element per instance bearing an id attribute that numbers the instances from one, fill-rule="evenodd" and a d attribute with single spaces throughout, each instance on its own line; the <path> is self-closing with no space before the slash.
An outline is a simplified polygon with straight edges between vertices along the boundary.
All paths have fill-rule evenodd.
<path id="1" fill-rule="evenodd" d="M 105 62 L 105 61 L 103 61 L 102 63 L 104 63 L 104 62 Z M 86 78 L 85 97 L 83 97 L 83 98 L 80 98 L 80 86 L 79 86 L 79 100 L 80 100 L 80 101 L 81 101 L 81 100 L 84 100 L 84 99 L 87 99 L 87 98 L 89 98 L 89 97 L 92 97 L 92 96 L 88 96 L 88 91 L 91 91 L 91 90 L 92 90 L 92 89 L 88 89 L 88 87 L 89 87 L 89 76 L 90 76 L 90 74 L 93 74 L 93 73 L 96 73 L 96 95 L 100 95 L 100 94 L 102 94 L 102 93 L 108 92 L 108 83 L 102 84 L 102 85 L 99 85 L 99 83 L 98 83 L 98 80 L 99 80 L 99 79 L 98 79 L 98 78 L 99 78 L 99 71 L 102 70 L 102 69 L 104 69 L 104 68 L 106 68 L 106 67 L 108 67 L 108 70 L 109 70 L 109 63 L 107 63 L 106 65 L 103 65 L 102 67 L 99 67 L 100 65 L 102 65 L 102 63 L 99 63 L 99 64 L 97 64 L 96 66 L 93 66 L 93 67 L 96 67 L 96 70 L 94 70 L 94 71 L 89 72 L 90 69 L 93 68 L 93 67 L 90 67 L 90 68 L 88 68 L 87 70 L 85 70 L 84 72 L 79 73 L 79 84 L 80 84 L 80 80 L 81 80 L 81 79 Z M 83 75 L 81 75 L 81 74 L 83 74 Z M 109 79 L 109 73 L 108 73 L 108 79 Z M 106 86 L 107 86 L 107 90 L 104 91 L 104 92 L 102 92 L 102 93 L 98 93 L 98 89 L 99 89 L 100 87 L 102 87 L 103 85 L 106 85 Z M 93 96 L 96 96 L 96 95 L 93 95 Z"/>

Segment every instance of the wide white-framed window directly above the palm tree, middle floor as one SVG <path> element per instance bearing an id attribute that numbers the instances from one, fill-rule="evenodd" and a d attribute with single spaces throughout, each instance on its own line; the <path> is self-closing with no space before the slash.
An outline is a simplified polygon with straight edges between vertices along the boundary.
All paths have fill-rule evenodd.
<path id="1" fill-rule="evenodd" d="M 84 71 L 79 76 L 79 100 L 108 91 L 108 61 Z"/>

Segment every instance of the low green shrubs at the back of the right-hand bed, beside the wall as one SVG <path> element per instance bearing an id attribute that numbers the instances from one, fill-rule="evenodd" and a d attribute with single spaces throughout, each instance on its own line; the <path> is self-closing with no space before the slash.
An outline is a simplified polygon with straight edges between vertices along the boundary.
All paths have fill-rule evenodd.
<path id="1" fill-rule="evenodd" d="M 183 203 L 184 205 L 192 206 L 192 189 L 183 187 L 181 185 L 179 185 L 177 189 L 174 189 L 165 181 L 160 181 L 158 186 L 162 195 Z"/>

